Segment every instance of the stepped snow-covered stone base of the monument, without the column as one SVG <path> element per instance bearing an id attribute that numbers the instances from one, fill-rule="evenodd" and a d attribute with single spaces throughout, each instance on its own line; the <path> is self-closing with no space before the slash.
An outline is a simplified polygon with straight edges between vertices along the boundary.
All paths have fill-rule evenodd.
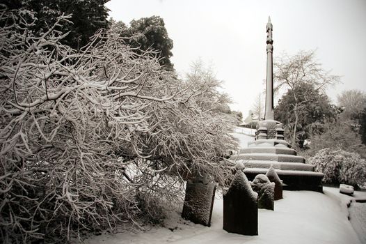
<path id="1" fill-rule="evenodd" d="M 267 129 L 265 125 L 270 125 L 270 128 Z M 322 192 L 324 174 L 315 172 L 314 166 L 305 164 L 305 158 L 298 156 L 284 139 L 279 139 L 283 137 L 282 124 L 278 121 L 261 121 L 259 126 L 256 140 L 248 142 L 248 148 L 241 148 L 239 154 L 230 158 L 244 163 L 248 180 L 253 181 L 257 174 L 266 174 L 273 165 L 283 181 L 284 190 Z M 282 135 L 278 135 L 280 132 Z"/>

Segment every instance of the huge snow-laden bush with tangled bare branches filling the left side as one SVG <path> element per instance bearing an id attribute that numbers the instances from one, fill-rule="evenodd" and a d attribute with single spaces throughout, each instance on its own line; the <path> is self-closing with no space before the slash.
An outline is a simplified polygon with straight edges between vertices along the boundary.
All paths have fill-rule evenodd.
<path id="1" fill-rule="evenodd" d="M 200 106 L 205 84 L 113 28 L 76 52 L 59 42 L 70 16 L 34 36 L 31 13 L 0 11 L 1 243 L 139 225 L 182 201 L 183 178 L 225 181 L 237 144 L 231 118 Z"/>

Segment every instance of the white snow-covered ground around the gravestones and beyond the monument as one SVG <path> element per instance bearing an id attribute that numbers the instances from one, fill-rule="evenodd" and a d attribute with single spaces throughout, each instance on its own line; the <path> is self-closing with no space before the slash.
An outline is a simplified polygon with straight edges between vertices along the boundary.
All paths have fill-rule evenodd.
<path id="1" fill-rule="evenodd" d="M 253 137 L 235 134 L 242 146 L 253 140 Z M 366 192 L 355 192 L 354 195 L 366 197 Z M 146 231 L 125 231 L 114 235 L 102 234 L 90 237 L 85 243 L 360 244 L 360 238 L 348 220 L 347 203 L 351 199 L 352 197 L 340 194 L 337 188 L 325 187 L 324 194 L 284 191 L 283 199 L 275 202 L 274 211 L 259 209 L 259 235 L 242 236 L 222 229 L 223 199 L 218 193 L 214 201 L 211 227 L 183 220 L 180 218 L 180 209 L 170 214 L 164 227 L 146 227 Z"/>

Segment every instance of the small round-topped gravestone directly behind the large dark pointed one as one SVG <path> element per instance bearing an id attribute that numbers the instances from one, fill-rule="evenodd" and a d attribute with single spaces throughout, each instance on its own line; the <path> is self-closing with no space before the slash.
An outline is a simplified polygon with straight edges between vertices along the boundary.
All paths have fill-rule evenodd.
<path id="1" fill-rule="evenodd" d="M 258 193 L 258 208 L 273 210 L 275 183 L 269 181 L 264 174 L 257 174 L 250 185 Z"/>

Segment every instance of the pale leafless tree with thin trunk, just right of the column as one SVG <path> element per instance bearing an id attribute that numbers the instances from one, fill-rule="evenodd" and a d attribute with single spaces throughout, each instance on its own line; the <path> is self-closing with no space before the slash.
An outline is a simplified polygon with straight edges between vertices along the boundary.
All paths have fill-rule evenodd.
<path id="1" fill-rule="evenodd" d="M 301 112 L 301 102 L 296 97 L 296 91 L 302 84 L 312 84 L 316 91 L 324 91 L 326 86 L 340 82 L 340 77 L 330 75 L 315 60 L 315 51 L 304 52 L 289 56 L 283 54 L 274 62 L 274 80 L 277 83 L 275 91 L 289 89 L 294 96 L 294 128 L 292 129 L 292 145 L 295 144 L 296 130 L 299 125 L 299 114 Z M 306 99 L 304 100 L 304 102 Z"/>

